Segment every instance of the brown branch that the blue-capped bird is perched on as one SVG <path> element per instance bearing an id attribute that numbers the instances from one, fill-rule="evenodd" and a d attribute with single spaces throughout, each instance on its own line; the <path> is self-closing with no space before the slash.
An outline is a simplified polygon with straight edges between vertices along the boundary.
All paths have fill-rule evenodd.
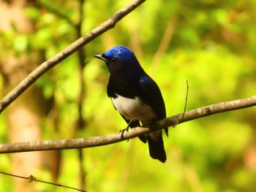
<path id="1" fill-rule="evenodd" d="M 200 107 L 195 110 L 190 110 L 184 114 L 184 117 L 179 123 L 184 123 L 189 120 L 197 118 L 203 118 L 208 115 L 214 115 L 219 112 L 227 112 L 231 110 L 239 110 L 246 107 L 252 107 L 256 105 L 256 96 L 252 96 L 246 99 L 238 99 L 235 101 L 227 101 L 219 104 L 211 104 L 206 107 Z M 176 122 L 181 118 L 183 113 L 174 115 L 170 118 L 159 120 L 154 127 L 154 130 L 165 128 L 166 126 L 176 125 Z M 150 132 L 150 128 L 132 128 L 129 132 L 124 132 L 124 138 L 121 139 L 120 134 L 108 134 L 101 137 L 89 137 L 80 139 L 59 139 L 37 142 L 17 142 L 11 144 L 1 144 L 0 153 L 17 153 L 27 152 L 35 150 L 63 150 L 63 149 L 75 149 L 86 147 L 97 147 L 102 145 L 109 145 L 115 142 L 121 142 L 122 140 L 138 137 L 141 134 Z"/>

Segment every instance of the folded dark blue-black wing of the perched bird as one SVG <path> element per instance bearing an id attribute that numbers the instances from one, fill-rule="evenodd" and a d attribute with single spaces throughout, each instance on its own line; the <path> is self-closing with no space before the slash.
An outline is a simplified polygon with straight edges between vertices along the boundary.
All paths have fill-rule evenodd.
<path id="1" fill-rule="evenodd" d="M 140 78 L 140 86 L 143 90 L 143 99 L 152 107 L 158 119 L 166 118 L 165 101 L 157 83 L 151 77 L 143 76 Z M 167 128 L 165 133 L 168 135 Z"/>

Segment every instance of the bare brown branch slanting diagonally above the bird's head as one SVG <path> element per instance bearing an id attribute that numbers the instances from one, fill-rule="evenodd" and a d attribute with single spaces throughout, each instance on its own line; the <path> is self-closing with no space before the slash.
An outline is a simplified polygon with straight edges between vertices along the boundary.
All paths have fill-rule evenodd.
<path id="1" fill-rule="evenodd" d="M 132 10 L 140 6 L 140 4 L 142 4 L 144 1 L 146 0 L 131 1 L 129 4 L 127 4 L 127 6 L 121 8 L 118 12 L 116 12 L 111 18 L 106 20 L 101 25 L 97 26 L 97 28 L 94 28 L 85 36 L 80 37 L 80 39 L 76 40 L 71 45 L 64 48 L 64 50 L 61 50 L 61 52 L 48 59 L 48 61 L 45 61 L 40 66 L 38 66 L 37 69 L 31 72 L 31 74 L 29 74 L 24 80 L 22 80 L 14 89 L 12 89 L 12 91 L 10 91 L 10 93 L 7 94 L 7 96 L 4 97 L 4 99 L 0 101 L 0 113 L 6 107 L 8 107 L 12 103 L 12 101 L 17 99 L 20 94 L 26 91 L 26 89 L 29 88 L 29 86 L 32 85 L 39 77 L 41 77 L 42 74 L 45 74 L 45 72 L 53 68 L 53 66 L 59 64 L 69 55 L 72 55 L 72 53 L 75 53 L 75 51 L 79 50 L 81 47 L 88 44 L 96 37 L 99 37 L 99 35 L 103 34 L 105 31 L 113 28 L 119 20 L 121 20 L 122 18 L 124 18 L 124 16 L 128 15 L 129 12 L 132 12 Z"/>

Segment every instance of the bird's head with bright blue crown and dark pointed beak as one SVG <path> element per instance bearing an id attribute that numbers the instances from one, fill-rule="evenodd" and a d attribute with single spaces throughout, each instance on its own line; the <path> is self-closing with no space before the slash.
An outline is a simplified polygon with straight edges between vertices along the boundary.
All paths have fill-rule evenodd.
<path id="1" fill-rule="evenodd" d="M 102 59 L 108 66 L 110 74 L 120 74 L 121 72 L 136 72 L 141 68 L 132 50 L 122 45 L 112 47 L 102 55 L 94 55 Z"/>

